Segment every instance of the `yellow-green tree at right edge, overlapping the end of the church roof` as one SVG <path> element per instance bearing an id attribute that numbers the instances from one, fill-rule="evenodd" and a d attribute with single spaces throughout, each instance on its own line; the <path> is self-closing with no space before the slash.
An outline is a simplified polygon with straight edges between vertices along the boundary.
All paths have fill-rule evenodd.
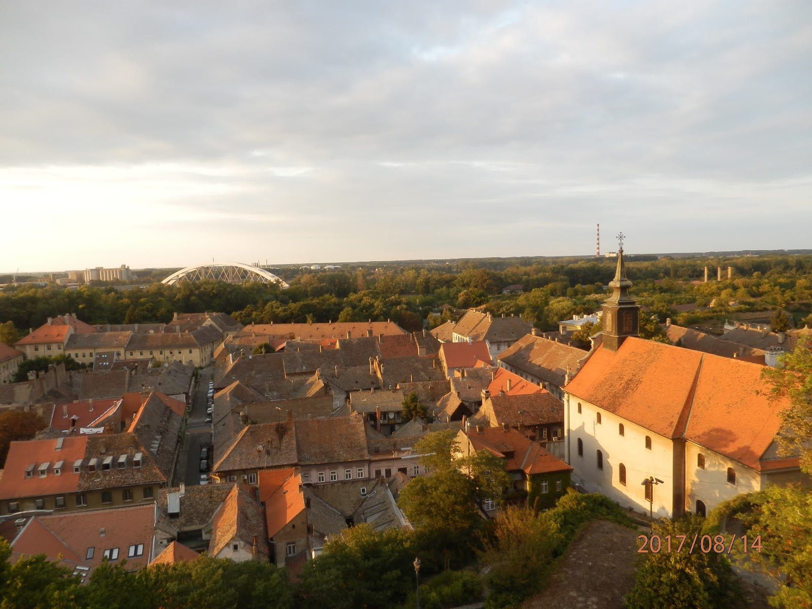
<path id="1" fill-rule="evenodd" d="M 778 440 L 784 455 L 801 455 L 801 469 L 812 473 L 812 338 L 798 340 L 777 368 L 762 369 L 772 397 L 788 400 L 781 411 Z"/>

